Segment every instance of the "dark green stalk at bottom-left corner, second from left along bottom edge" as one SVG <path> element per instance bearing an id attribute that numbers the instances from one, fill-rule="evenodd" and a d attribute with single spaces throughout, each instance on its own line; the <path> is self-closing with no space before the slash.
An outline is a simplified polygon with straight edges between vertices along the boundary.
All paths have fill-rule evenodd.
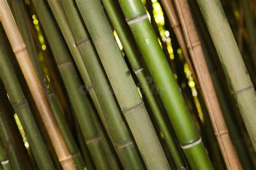
<path id="1" fill-rule="evenodd" d="M 1 86 L 2 88 L 2 86 Z M 2 96 L 1 96 L 2 97 Z M 10 164 L 14 169 L 24 169 L 21 157 L 15 145 L 14 138 L 11 135 L 11 130 L 6 122 L 3 110 L 0 108 L 0 139 L 5 147 L 6 154 L 10 159 Z"/>

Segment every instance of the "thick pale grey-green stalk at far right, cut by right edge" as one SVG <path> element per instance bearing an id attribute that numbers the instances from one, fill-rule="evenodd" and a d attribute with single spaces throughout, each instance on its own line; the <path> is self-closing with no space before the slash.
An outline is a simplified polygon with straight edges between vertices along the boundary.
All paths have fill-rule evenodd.
<path id="1" fill-rule="evenodd" d="M 256 95 L 220 1 L 197 1 L 256 150 Z"/>

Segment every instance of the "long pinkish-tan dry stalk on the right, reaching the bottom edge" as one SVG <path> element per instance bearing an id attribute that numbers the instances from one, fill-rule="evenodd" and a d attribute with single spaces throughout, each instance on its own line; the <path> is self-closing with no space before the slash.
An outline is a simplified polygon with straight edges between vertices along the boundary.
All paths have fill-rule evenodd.
<path id="1" fill-rule="evenodd" d="M 187 48 L 190 51 L 194 67 L 198 75 L 201 91 L 203 93 L 215 136 L 218 140 L 227 169 L 242 169 L 237 153 L 235 152 L 233 144 L 231 143 L 217 95 L 215 94 L 211 76 L 204 58 L 203 48 L 201 47 L 201 42 L 199 40 L 196 27 L 193 23 L 190 7 L 188 6 L 188 1 L 174 1 L 177 7 L 181 26 L 184 31 Z"/>

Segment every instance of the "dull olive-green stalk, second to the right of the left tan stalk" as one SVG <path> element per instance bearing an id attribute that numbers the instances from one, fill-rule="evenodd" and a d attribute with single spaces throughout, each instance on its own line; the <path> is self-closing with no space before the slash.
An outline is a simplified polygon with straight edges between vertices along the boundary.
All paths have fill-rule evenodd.
<path id="1" fill-rule="evenodd" d="M 97 168 L 110 168 L 110 164 L 105 157 L 102 140 L 99 137 L 98 131 L 95 128 L 95 123 L 92 120 L 91 114 L 95 114 L 95 112 L 89 104 L 89 98 L 79 91 L 82 84 L 80 83 L 68 48 L 64 44 L 62 36 L 58 32 L 58 28 L 50 15 L 46 2 L 36 0 L 33 0 L 32 2 L 42 23 L 46 38 L 49 40 L 53 56 L 57 62 L 65 87 L 68 89 L 67 92 L 71 105 L 75 108 L 74 112 L 82 129 L 85 142 L 90 150 L 92 158 L 95 161 Z"/>

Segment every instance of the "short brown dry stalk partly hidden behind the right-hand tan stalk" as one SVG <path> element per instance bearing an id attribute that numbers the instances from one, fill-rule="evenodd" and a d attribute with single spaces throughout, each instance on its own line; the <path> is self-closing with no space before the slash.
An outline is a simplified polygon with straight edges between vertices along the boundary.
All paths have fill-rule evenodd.
<path id="1" fill-rule="evenodd" d="M 184 55 L 185 60 L 187 62 L 187 65 L 190 67 L 191 73 L 194 77 L 194 82 L 196 82 L 196 84 L 198 85 L 198 88 L 200 88 L 199 87 L 200 84 L 198 82 L 197 74 L 194 71 L 193 63 L 191 62 L 190 56 L 189 56 L 187 48 L 186 48 L 184 33 L 182 31 L 181 24 L 179 22 L 178 14 L 177 14 L 176 8 L 174 6 L 173 0 L 161 0 L 161 3 L 164 6 L 166 15 L 169 19 L 169 22 L 171 23 L 173 32 L 175 33 L 176 38 L 179 42 L 180 48 L 183 52 L 183 55 Z"/>

